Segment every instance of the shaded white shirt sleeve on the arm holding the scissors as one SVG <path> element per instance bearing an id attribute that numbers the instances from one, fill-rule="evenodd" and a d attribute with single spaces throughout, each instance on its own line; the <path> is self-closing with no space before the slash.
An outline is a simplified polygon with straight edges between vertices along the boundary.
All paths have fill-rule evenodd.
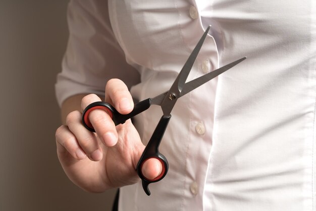
<path id="1" fill-rule="evenodd" d="M 112 31 L 107 1 L 71 1 L 67 21 L 69 39 L 55 85 L 60 106 L 76 94 L 103 96 L 111 78 L 120 78 L 128 88 L 138 83 L 139 73 L 127 64 Z"/>

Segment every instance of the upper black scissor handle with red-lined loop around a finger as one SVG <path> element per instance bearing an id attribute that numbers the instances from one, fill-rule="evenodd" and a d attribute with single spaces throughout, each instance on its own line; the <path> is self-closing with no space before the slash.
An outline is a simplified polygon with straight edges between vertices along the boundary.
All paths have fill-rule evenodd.
<path id="1" fill-rule="evenodd" d="M 137 114 L 147 110 L 150 107 L 150 100 L 151 98 L 140 101 L 139 103 L 134 105 L 133 110 L 129 114 L 120 114 L 111 104 L 103 101 L 91 103 L 84 109 L 82 113 L 82 123 L 86 129 L 91 132 L 95 132 L 89 120 L 89 113 L 95 109 L 102 109 L 110 115 L 115 125 L 123 124 L 127 119 L 130 119 Z"/>

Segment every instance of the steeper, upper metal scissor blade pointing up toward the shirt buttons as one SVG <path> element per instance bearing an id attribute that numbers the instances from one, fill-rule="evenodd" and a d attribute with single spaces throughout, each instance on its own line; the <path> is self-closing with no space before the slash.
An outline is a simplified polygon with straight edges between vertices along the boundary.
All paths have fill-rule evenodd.
<path id="1" fill-rule="evenodd" d="M 196 44 L 195 48 L 193 49 L 191 55 L 189 56 L 188 60 L 185 62 L 184 66 L 182 67 L 177 79 L 175 80 L 174 82 L 174 85 L 177 85 L 177 89 L 181 92 L 183 86 L 184 86 L 184 83 L 190 73 L 190 70 L 192 69 L 192 66 L 195 62 L 195 59 L 198 55 L 198 52 L 200 51 L 202 45 L 203 45 L 203 42 L 206 38 L 206 35 L 208 33 L 208 30 L 209 30 L 209 27 L 208 26 L 205 30 L 205 32 L 203 33 L 202 37 L 200 38 L 200 40 L 198 41 L 198 43 Z M 174 88 L 174 85 L 172 86 L 171 90 L 173 90 Z M 174 90 L 173 90 L 174 92 Z"/>

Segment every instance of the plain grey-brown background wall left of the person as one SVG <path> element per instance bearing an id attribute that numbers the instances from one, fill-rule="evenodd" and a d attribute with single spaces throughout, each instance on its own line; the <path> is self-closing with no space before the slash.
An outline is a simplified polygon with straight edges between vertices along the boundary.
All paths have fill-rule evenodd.
<path id="1" fill-rule="evenodd" d="M 0 210 L 110 210 L 114 191 L 73 185 L 56 155 L 54 93 L 68 1 L 0 1 Z"/>

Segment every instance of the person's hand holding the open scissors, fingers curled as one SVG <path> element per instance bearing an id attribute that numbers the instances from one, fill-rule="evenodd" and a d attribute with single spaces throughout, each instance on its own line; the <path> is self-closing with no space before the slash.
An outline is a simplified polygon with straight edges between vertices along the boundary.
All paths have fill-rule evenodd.
<path id="1" fill-rule="evenodd" d="M 90 103 L 100 101 L 94 94 L 82 98 L 81 110 Z M 111 79 L 106 86 L 106 102 L 121 114 L 133 109 L 132 97 L 119 79 Z M 139 181 L 136 165 L 145 148 L 131 120 L 115 126 L 108 113 L 101 109 L 90 112 L 89 121 L 96 133 L 86 130 L 80 111 L 66 117 L 66 125 L 56 131 L 58 158 L 69 179 L 79 187 L 102 192 L 109 188 L 130 185 Z M 157 159 L 148 159 L 142 174 L 154 179 L 162 172 Z"/>

